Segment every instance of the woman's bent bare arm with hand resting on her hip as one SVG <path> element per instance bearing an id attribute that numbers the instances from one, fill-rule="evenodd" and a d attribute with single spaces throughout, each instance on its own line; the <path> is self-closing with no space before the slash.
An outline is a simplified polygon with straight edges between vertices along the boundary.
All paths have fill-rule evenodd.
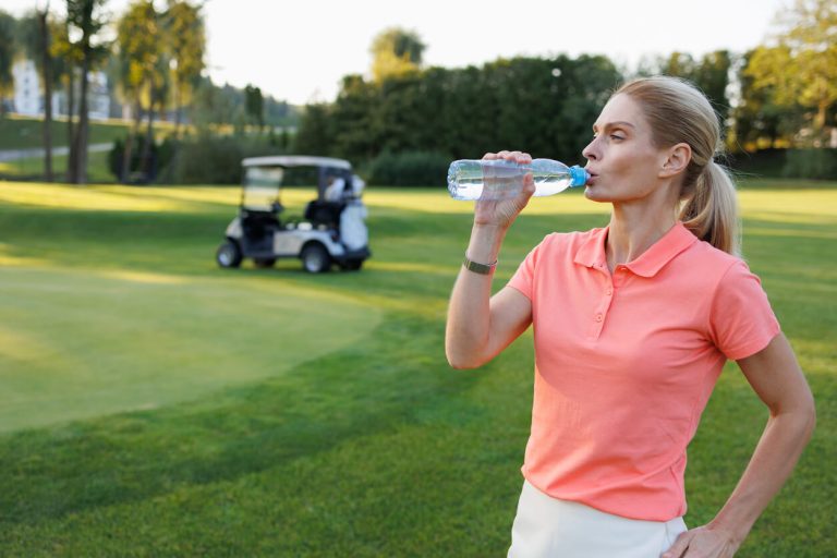
<path id="1" fill-rule="evenodd" d="M 707 525 L 683 533 L 664 558 L 732 556 L 790 476 L 814 430 L 814 398 L 785 336 L 738 365 L 769 410 L 767 426 L 724 508 Z"/>

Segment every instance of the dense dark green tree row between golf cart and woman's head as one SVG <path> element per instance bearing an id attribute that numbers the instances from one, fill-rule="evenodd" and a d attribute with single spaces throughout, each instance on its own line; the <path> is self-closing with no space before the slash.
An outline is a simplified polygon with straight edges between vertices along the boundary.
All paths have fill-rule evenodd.
<path id="1" fill-rule="evenodd" d="M 472 158 L 498 145 L 578 160 L 619 80 L 608 59 L 587 56 L 430 68 L 379 84 L 350 75 L 332 105 L 306 108 L 296 147 L 359 163 L 387 151 Z"/>

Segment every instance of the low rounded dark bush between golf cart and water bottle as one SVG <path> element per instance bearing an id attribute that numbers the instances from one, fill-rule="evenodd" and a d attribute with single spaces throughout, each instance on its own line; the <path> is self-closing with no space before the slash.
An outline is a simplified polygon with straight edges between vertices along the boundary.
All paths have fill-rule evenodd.
<path id="1" fill-rule="evenodd" d="M 435 186 L 445 184 L 450 157 L 436 151 L 384 151 L 368 167 L 369 185 Z"/>

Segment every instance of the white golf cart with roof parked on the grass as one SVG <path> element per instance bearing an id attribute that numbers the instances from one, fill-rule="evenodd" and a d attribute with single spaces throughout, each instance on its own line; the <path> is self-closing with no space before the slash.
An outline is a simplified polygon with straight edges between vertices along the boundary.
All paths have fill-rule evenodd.
<path id="1" fill-rule="evenodd" d="M 372 254 L 361 202 L 363 181 L 342 159 L 310 156 L 251 157 L 242 161 L 244 181 L 239 215 L 227 227 L 216 260 L 221 267 L 239 267 L 252 258 L 257 267 L 270 267 L 277 258 L 298 257 L 305 271 L 328 271 L 332 264 L 357 270 Z M 302 218 L 282 220 L 282 178 L 291 169 L 314 168 L 316 197 Z M 335 186 L 340 186 L 339 189 Z"/>

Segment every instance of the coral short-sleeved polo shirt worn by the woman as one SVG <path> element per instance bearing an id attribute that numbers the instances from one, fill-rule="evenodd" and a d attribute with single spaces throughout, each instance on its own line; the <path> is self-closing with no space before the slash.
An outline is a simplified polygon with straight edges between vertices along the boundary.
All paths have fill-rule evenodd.
<path id="1" fill-rule="evenodd" d="M 555 498 L 668 521 L 686 513 L 686 448 L 725 362 L 779 325 L 747 265 L 682 223 L 612 275 L 607 231 L 547 235 L 509 281 L 535 343 L 522 471 Z"/>

